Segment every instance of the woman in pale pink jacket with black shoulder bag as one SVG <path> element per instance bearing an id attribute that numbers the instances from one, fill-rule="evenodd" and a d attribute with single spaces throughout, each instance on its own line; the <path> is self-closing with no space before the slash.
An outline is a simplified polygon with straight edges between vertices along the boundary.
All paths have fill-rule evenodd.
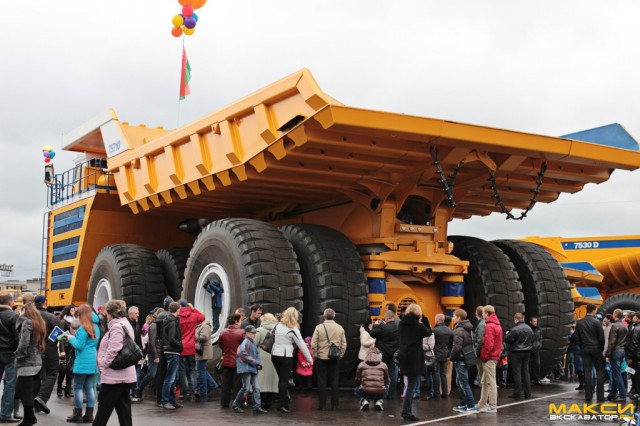
<path id="1" fill-rule="evenodd" d="M 136 382 L 135 366 L 122 370 L 113 370 L 109 366 L 122 349 L 124 333 L 134 338 L 133 328 L 127 320 L 127 305 L 123 300 L 110 300 L 104 305 L 109 321 L 109 331 L 100 342 L 98 350 L 98 368 L 100 369 L 100 393 L 98 394 L 98 412 L 94 426 L 106 426 L 115 408 L 120 426 L 132 426 L 131 385 Z"/>

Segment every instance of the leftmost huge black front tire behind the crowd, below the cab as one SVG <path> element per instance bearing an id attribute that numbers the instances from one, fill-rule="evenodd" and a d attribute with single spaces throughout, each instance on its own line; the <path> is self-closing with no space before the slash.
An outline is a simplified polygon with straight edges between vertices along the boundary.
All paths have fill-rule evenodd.
<path id="1" fill-rule="evenodd" d="M 111 299 L 137 306 L 143 317 L 162 305 L 164 280 L 154 252 L 135 244 L 115 244 L 98 253 L 89 278 L 87 300 L 97 307 Z"/>

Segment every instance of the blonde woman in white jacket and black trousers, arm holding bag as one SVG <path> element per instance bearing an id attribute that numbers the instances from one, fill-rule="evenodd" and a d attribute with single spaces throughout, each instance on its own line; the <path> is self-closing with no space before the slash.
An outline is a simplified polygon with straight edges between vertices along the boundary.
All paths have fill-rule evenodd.
<path id="1" fill-rule="evenodd" d="M 282 313 L 282 320 L 275 326 L 275 340 L 271 349 L 271 362 L 278 374 L 278 411 L 289 412 L 289 379 L 293 369 L 293 345 L 296 345 L 313 365 L 313 358 L 300 335 L 298 318 L 300 314 L 294 307 L 287 308 Z"/>

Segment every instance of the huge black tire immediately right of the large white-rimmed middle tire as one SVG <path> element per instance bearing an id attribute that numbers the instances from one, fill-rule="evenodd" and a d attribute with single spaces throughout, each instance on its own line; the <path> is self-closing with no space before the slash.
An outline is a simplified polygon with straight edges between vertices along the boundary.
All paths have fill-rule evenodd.
<path id="1" fill-rule="evenodd" d="M 293 245 L 302 274 L 302 335 L 311 336 L 324 310 L 333 309 L 347 339 L 341 377 L 350 377 L 358 365 L 360 325 L 369 315 L 360 255 L 347 237 L 325 226 L 287 225 L 282 231 Z"/>

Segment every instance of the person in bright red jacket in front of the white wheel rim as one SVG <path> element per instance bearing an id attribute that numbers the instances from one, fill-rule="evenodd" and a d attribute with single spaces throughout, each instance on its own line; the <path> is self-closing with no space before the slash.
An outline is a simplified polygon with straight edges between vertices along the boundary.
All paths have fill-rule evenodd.
<path id="1" fill-rule="evenodd" d="M 196 327 L 204 321 L 204 315 L 187 302 L 180 299 L 180 330 L 182 331 L 182 353 L 180 354 L 180 397 L 196 395 L 198 371 L 196 369 Z"/>

